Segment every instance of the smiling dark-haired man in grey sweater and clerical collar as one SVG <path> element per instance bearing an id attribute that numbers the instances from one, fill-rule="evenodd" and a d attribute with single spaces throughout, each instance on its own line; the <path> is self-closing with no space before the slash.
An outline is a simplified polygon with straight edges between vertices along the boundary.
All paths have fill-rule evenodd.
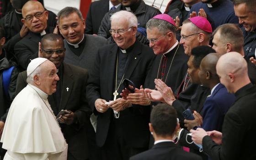
<path id="1" fill-rule="evenodd" d="M 59 31 L 65 38 L 65 62 L 89 71 L 94 65 L 96 51 L 107 44 L 103 37 L 84 34 L 85 20 L 81 12 L 74 7 L 66 7 L 59 11 Z"/>

